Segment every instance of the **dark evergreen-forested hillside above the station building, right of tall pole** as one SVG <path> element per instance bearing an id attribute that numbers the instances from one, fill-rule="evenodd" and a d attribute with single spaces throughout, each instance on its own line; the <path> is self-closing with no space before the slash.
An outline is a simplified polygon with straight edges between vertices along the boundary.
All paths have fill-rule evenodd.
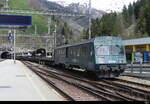
<path id="1" fill-rule="evenodd" d="M 83 31 L 84 38 L 86 30 Z M 122 13 L 111 12 L 92 20 L 92 37 L 120 36 L 124 39 L 150 36 L 150 0 L 124 6 Z"/>

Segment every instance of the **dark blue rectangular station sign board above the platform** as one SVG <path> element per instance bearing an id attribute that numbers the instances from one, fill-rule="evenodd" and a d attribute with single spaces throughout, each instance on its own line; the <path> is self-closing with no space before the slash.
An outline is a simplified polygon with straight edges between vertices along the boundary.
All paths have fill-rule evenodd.
<path id="1" fill-rule="evenodd" d="M 31 26 L 32 17 L 21 15 L 0 15 L 0 25 Z"/>

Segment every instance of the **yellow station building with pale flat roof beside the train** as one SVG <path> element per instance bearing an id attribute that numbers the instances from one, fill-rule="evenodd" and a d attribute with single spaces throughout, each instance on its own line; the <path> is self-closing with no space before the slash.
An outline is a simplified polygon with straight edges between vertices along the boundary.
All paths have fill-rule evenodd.
<path id="1" fill-rule="evenodd" d="M 150 62 L 150 37 L 124 40 L 124 45 L 129 63 Z"/>

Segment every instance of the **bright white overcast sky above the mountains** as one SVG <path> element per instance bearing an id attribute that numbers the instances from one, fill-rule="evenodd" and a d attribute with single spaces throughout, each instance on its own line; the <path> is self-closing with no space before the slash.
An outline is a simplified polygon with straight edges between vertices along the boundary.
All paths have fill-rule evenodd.
<path id="1" fill-rule="evenodd" d="M 67 4 L 70 3 L 88 3 L 88 0 L 49 0 L 49 1 L 65 1 Z M 91 0 L 92 7 L 104 10 L 104 11 L 121 11 L 124 5 L 128 5 L 129 3 L 133 3 L 133 1 L 137 0 Z"/>

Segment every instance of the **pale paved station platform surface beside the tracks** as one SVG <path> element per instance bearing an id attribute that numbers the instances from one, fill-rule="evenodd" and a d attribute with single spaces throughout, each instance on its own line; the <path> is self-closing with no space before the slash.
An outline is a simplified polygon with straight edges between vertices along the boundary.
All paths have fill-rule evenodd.
<path id="1" fill-rule="evenodd" d="M 20 61 L 0 62 L 0 101 L 65 101 Z"/>

